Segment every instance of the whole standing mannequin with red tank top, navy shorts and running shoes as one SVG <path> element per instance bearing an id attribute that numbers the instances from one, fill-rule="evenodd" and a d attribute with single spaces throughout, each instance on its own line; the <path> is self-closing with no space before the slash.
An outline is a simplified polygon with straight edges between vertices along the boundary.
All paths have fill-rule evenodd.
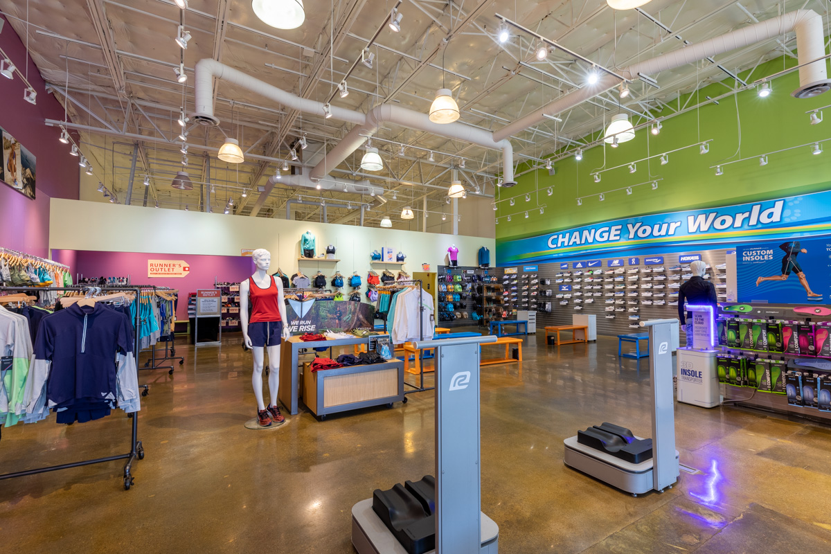
<path id="1" fill-rule="evenodd" d="M 239 303 L 239 319 L 243 327 L 243 341 L 254 356 L 252 385 L 257 399 L 257 418 L 260 427 L 273 423 L 283 424 L 286 419 L 277 407 L 279 387 L 280 343 L 288 340 L 291 331 L 283 324 L 286 320 L 286 301 L 283 297 L 283 282 L 268 275 L 271 265 L 271 253 L 258 248 L 251 254 L 257 271 L 245 281 L 239 283 L 239 297 L 251 302 Z M 268 349 L 268 392 L 271 401 L 268 406 L 263 401 L 263 362 L 265 350 Z"/>

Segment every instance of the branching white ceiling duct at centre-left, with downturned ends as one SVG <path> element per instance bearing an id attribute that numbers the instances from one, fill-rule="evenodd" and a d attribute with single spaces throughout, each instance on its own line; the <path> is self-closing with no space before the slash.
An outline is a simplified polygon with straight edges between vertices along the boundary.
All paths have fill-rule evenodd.
<path id="1" fill-rule="evenodd" d="M 196 64 L 194 75 L 194 92 L 196 108 L 193 119 L 202 125 L 219 125 L 219 119 L 214 116 L 214 86 L 213 78 L 222 79 L 241 86 L 248 91 L 256 92 L 278 104 L 284 105 L 292 110 L 298 110 L 309 114 L 323 114 L 323 103 L 307 100 L 293 95 L 291 92 L 283 91 L 276 86 L 255 79 L 238 71 L 233 67 L 225 66 L 219 61 L 211 59 L 199 60 Z M 484 146 L 494 150 L 502 150 L 503 155 L 503 179 L 506 184 L 514 181 L 514 149 L 509 140 L 494 140 L 494 136 L 485 130 L 476 129 L 462 123 L 451 123 L 449 125 L 438 125 L 430 121 L 426 114 L 407 110 L 395 105 L 379 105 L 373 108 L 369 114 L 362 114 L 354 110 L 346 110 L 332 106 L 332 118 L 356 124 L 338 144 L 332 148 L 311 171 L 312 179 L 322 179 L 344 159 L 361 147 L 366 141 L 366 136 L 372 135 L 381 123 L 395 123 L 408 129 L 422 130 L 447 137 L 449 139 L 465 140 L 475 145 Z M 285 182 L 285 181 L 284 181 Z M 315 183 L 312 186 L 316 186 Z M 305 185 L 299 185 L 305 186 Z"/>

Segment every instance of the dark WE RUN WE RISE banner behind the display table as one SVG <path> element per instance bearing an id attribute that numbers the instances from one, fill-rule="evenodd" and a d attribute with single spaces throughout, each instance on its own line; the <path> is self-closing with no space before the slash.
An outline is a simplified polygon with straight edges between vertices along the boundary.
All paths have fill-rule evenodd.
<path id="1" fill-rule="evenodd" d="M 334 300 L 288 300 L 286 306 L 288 329 L 292 333 L 322 331 L 372 331 L 375 307 L 364 302 Z"/>

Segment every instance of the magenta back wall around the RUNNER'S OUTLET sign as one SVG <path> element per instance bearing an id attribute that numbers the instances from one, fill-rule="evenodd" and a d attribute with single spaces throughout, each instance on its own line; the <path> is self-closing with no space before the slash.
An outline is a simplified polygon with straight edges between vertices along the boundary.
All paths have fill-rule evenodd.
<path id="1" fill-rule="evenodd" d="M 219 282 L 240 282 L 254 271 L 250 257 L 196 256 L 191 254 L 147 254 L 140 252 L 91 252 L 86 250 L 53 250 L 52 259 L 72 269 L 72 279 L 83 277 L 127 277 L 137 285 L 156 285 L 179 289 L 176 319 L 188 318 L 189 292 L 198 288 L 214 288 Z M 190 266 L 186 277 L 147 277 L 148 260 L 184 260 Z"/>

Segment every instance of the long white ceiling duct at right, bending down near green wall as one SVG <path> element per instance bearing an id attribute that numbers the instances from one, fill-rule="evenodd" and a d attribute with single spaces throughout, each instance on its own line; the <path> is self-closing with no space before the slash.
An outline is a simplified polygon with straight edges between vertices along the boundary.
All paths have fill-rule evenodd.
<path id="1" fill-rule="evenodd" d="M 691 44 L 677 50 L 667 52 L 652 60 L 642 61 L 620 71 L 623 76 L 637 79 L 638 73 L 647 76 L 656 76 L 661 71 L 675 69 L 688 63 L 700 61 L 706 57 L 717 56 L 728 51 L 738 50 L 781 37 L 786 32 L 796 32 L 797 55 L 799 56 L 799 89 L 794 91 L 797 98 L 810 98 L 829 91 L 831 82 L 825 70 L 826 62 L 819 60 L 825 56 L 825 39 L 823 18 L 813 10 L 797 10 L 773 17 L 764 22 L 754 23 L 736 31 L 728 32 L 720 37 L 708 41 Z M 809 63 L 814 61 L 813 63 Z M 544 105 L 521 119 L 505 125 L 494 132 L 494 140 L 506 140 L 533 125 L 546 120 L 546 115 L 559 115 L 570 110 L 584 101 L 602 94 L 620 84 L 620 80 L 611 75 L 602 76 L 595 85 L 584 86 L 558 100 Z"/>

